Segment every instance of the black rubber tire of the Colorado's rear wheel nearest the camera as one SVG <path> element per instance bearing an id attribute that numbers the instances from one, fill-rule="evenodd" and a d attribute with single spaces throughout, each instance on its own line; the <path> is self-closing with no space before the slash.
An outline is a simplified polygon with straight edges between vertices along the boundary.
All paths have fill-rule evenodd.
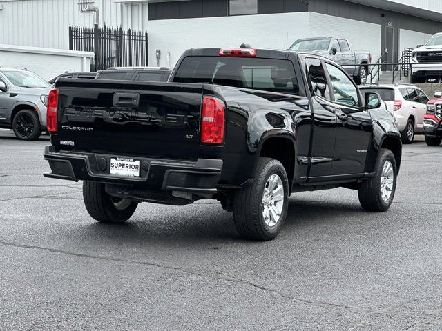
<path id="1" fill-rule="evenodd" d="M 270 177 L 276 175 L 280 179 L 281 185 L 276 185 L 273 192 L 280 192 L 277 188 L 283 188 L 282 205 L 278 205 L 280 201 L 276 202 L 273 194 L 265 197 L 265 188 L 269 188 L 271 183 L 268 183 Z M 280 161 L 269 158 L 260 158 L 256 166 L 254 181 L 246 188 L 242 188 L 235 192 L 233 196 L 233 221 L 240 236 L 244 239 L 251 239 L 257 241 L 268 241 L 275 239 L 282 228 L 282 224 L 287 216 L 287 208 L 289 204 L 289 180 L 285 168 Z M 276 179 L 276 177 L 273 177 Z M 267 186 L 268 185 L 268 186 Z M 266 187 L 267 186 L 267 187 Z M 281 194 L 280 195 L 281 198 Z M 263 199 L 267 199 L 266 206 Z M 273 205 L 271 204 L 273 203 Z M 274 209 L 272 209 L 274 207 Z M 267 209 L 269 208 L 269 209 Z M 274 224 L 271 224 L 274 210 L 280 210 L 279 219 L 274 219 Z M 268 212 L 268 218 L 264 217 L 263 211 Z M 276 214 L 277 217 L 277 214 Z M 270 223 L 270 225 L 269 225 Z"/>

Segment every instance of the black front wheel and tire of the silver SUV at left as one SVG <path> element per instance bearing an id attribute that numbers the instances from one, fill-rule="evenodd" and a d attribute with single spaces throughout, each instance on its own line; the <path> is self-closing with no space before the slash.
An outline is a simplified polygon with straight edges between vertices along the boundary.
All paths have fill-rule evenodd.
<path id="1" fill-rule="evenodd" d="M 15 137 L 21 140 L 35 140 L 41 135 L 40 120 L 35 110 L 23 109 L 12 119 Z"/>

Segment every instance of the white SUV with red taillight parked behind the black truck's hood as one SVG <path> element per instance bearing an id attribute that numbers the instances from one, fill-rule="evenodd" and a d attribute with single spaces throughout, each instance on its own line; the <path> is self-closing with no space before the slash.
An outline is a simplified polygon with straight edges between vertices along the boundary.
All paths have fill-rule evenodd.
<path id="1" fill-rule="evenodd" d="M 414 134 L 423 133 L 423 117 L 428 102 L 423 90 L 408 84 L 369 85 L 361 87 L 361 90 L 376 92 L 385 101 L 387 109 L 398 121 L 403 143 L 412 143 Z"/>

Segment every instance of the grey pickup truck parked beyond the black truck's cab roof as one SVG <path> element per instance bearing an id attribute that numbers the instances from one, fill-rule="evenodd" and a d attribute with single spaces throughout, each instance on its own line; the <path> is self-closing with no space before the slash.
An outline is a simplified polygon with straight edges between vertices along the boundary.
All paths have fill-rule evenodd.
<path id="1" fill-rule="evenodd" d="M 345 38 L 306 38 L 298 39 L 289 50 L 311 52 L 327 57 L 345 68 L 357 84 L 367 83 L 371 72 L 372 54 L 366 51 L 355 51 Z"/>

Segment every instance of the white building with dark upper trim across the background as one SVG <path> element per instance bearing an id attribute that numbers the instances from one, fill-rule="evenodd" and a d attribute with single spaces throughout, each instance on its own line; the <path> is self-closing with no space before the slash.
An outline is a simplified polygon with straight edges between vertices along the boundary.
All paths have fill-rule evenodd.
<path id="1" fill-rule="evenodd" d="M 386 61 L 397 61 L 442 32 L 441 13 L 441 0 L 0 0 L 0 44 L 68 49 L 70 25 L 97 22 L 146 30 L 151 65 L 155 50 L 173 66 L 186 48 L 284 49 L 325 36 L 348 38 L 374 61 L 387 49 Z"/>

